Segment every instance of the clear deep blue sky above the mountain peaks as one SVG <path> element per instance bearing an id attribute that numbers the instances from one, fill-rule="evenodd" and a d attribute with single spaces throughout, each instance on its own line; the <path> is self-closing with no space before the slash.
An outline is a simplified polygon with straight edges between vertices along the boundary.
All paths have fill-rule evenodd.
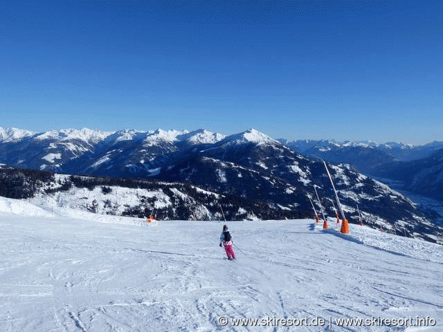
<path id="1" fill-rule="evenodd" d="M 2 1 L 0 127 L 443 140 L 443 2 Z"/>

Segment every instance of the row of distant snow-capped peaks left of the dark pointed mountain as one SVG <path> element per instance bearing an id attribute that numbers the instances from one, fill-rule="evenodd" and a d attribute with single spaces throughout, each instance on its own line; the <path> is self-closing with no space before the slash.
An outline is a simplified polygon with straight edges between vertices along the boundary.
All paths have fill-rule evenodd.
<path id="1" fill-rule="evenodd" d="M 159 164 L 156 157 L 177 151 L 177 146 L 210 144 L 224 137 L 204 129 L 109 132 L 84 128 L 33 133 L 0 127 L 0 161 L 59 172 L 91 173 L 105 169 L 107 173 L 118 172 L 114 175 L 137 175 L 141 170 L 150 174 L 150 169 Z"/>

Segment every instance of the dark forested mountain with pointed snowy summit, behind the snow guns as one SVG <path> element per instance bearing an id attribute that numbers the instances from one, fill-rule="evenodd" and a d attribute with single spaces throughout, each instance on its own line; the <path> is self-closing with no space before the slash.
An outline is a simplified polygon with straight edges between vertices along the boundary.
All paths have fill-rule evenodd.
<path id="1" fill-rule="evenodd" d="M 194 183 L 216 192 L 272 202 L 283 209 L 305 211 L 311 210 L 309 197 L 313 198 L 316 185 L 327 213 L 334 215 L 334 192 L 323 162 L 297 154 L 266 136 L 244 138 L 254 132 L 228 136 L 216 144 L 202 146 L 195 153 L 183 154 L 172 167 L 163 167 L 156 178 Z M 443 230 L 434 232 L 435 225 L 404 195 L 359 174 L 350 165 L 331 165 L 330 170 L 345 205 L 345 215 L 352 222 L 357 220 L 356 205 L 359 205 L 365 220 L 374 228 L 383 227 L 391 232 L 399 228 L 413 237 L 443 234 Z M 435 241 L 434 237 L 426 239 Z"/>

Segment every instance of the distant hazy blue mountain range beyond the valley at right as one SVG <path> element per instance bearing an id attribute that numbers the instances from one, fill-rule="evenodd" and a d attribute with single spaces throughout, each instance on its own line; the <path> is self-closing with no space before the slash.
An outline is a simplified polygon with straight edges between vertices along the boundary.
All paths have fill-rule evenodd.
<path id="1" fill-rule="evenodd" d="M 350 163 L 365 175 L 389 180 L 398 190 L 443 201 L 443 142 L 417 146 L 334 140 L 280 142 L 305 156 L 331 163 Z"/>

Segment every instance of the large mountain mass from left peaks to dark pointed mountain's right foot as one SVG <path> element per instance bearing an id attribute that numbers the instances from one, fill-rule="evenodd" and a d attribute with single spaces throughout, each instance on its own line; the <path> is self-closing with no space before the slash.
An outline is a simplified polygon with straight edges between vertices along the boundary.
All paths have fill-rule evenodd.
<path id="1" fill-rule="evenodd" d="M 231 136 L 204 129 L 0 132 L 0 163 L 10 167 L 190 183 L 228 195 L 232 201 L 237 198 L 262 202 L 272 207 L 268 219 L 281 219 L 284 211 L 288 215 L 311 211 L 309 198 L 314 199 L 315 185 L 326 213 L 334 216 L 334 194 L 323 163 L 255 129 Z M 429 241 L 443 234 L 417 205 L 388 186 L 356 172 L 350 165 L 330 165 L 330 171 L 351 222 L 358 221 L 358 205 L 365 223 L 373 228 Z M 253 213 L 244 210 L 246 214 Z M 233 213 L 230 218 L 239 216 Z"/>

